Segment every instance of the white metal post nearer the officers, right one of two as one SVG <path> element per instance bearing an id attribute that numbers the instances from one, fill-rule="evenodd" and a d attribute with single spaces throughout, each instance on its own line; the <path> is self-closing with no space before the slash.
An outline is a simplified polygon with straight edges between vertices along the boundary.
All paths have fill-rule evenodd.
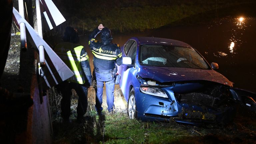
<path id="1" fill-rule="evenodd" d="M 37 18 L 37 30 L 38 35 L 43 38 L 43 30 L 42 30 L 42 18 L 41 18 L 41 11 L 40 11 L 40 1 L 36 0 L 36 18 Z M 39 60 L 41 67 L 45 66 L 45 58 L 44 58 L 44 46 L 39 46 Z"/>

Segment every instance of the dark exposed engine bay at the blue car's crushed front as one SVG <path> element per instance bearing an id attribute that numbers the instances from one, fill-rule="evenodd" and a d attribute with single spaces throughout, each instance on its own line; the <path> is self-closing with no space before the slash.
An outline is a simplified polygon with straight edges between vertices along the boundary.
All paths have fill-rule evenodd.
<path id="1" fill-rule="evenodd" d="M 175 94 L 177 102 L 182 104 L 179 118 L 228 123 L 235 116 L 235 101 L 226 86 L 205 84 L 203 88 L 184 94 Z"/>

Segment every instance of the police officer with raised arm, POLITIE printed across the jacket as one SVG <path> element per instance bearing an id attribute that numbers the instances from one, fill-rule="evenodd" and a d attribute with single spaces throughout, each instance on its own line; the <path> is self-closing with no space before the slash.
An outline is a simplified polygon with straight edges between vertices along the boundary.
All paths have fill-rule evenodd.
<path id="1" fill-rule="evenodd" d="M 95 40 L 96 36 L 101 33 L 101 42 Z M 121 65 L 122 53 L 119 45 L 112 44 L 111 30 L 100 24 L 89 35 L 89 46 L 93 57 L 93 66 L 97 82 L 96 91 L 96 111 L 101 115 L 102 108 L 102 93 L 104 82 L 106 84 L 106 95 L 108 111 L 112 112 L 114 105 L 114 87 L 115 76 L 113 72 L 115 65 Z"/>

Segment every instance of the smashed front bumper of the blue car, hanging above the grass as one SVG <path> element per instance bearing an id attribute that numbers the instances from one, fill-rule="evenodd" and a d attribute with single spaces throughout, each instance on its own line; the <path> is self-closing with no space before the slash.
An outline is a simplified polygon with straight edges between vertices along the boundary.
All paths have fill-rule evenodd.
<path id="1" fill-rule="evenodd" d="M 166 91 L 166 93 L 168 93 L 168 99 L 141 94 L 140 98 L 143 99 L 143 104 L 140 106 L 143 107 L 146 104 L 147 107 L 142 108 L 144 111 L 139 114 L 139 117 L 145 121 L 174 120 L 175 122 L 192 125 L 198 125 L 199 123 L 229 123 L 234 119 L 236 109 L 235 105 L 231 104 L 232 102 L 220 105 L 221 102 L 219 100 L 214 100 L 213 102 L 213 98 L 205 94 L 197 95 L 191 93 L 193 98 L 188 99 L 191 94 L 175 96 L 171 90 Z M 178 98 L 180 96 L 181 98 Z M 205 101 L 202 102 L 202 99 Z M 196 100 L 196 102 L 193 100 Z M 199 101 L 201 102 L 199 103 Z M 216 106 L 217 104 L 219 106 Z"/>

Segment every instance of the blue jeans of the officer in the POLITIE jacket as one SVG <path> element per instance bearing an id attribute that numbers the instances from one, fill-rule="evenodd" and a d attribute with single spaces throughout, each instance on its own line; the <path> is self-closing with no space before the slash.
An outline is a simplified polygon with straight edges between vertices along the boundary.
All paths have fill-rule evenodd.
<path id="1" fill-rule="evenodd" d="M 102 94 L 104 82 L 106 84 L 106 95 L 107 95 L 107 105 L 108 111 L 113 111 L 114 105 L 114 88 L 115 88 L 115 78 L 113 72 L 100 73 L 95 72 L 96 81 L 97 81 L 97 90 L 96 90 L 96 104 L 95 108 L 98 113 L 100 113 L 102 108 Z"/>

